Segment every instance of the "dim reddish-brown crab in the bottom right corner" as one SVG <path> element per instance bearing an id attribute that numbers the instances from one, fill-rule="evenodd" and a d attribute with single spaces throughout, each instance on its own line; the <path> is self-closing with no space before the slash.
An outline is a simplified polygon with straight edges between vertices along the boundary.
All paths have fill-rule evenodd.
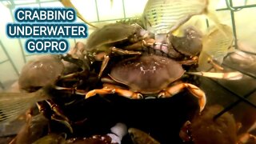
<path id="1" fill-rule="evenodd" d="M 237 134 L 240 127 L 229 112 L 214 118 L 222 110 L 223 107 L 219 105 L 206 106 L 206 109 L 200 115 L 196 114 L 191 122 L 185 122 L 179 133 L 180 138 L 184 142 L 194 144 L 256 142 L 256 137 L 252 134 Z"/>

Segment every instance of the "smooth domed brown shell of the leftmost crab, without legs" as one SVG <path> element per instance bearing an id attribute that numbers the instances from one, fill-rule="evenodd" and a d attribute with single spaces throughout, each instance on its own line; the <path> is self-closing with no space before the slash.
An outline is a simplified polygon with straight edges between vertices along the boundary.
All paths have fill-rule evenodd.
<path id="1" fill-rule="evenodd" d="M 34 58 L 22 67 L 18 78 L 21 90 L 32 92 L 42 86 L 54 83 L 62 74 L 64 65 L 58 55 L 45 55 Z"/>

